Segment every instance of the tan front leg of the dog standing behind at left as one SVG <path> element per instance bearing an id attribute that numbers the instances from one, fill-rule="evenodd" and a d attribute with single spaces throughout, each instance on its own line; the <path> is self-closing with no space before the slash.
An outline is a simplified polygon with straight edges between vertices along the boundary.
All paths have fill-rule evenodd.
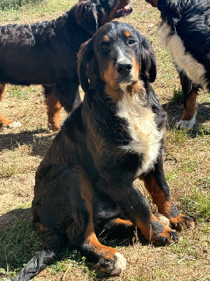
<path id="1" fill-rule="evenodd" d="M 55 89 L 53 86 L 44 86 L 44 89 L 48 112 L 48 126 L 53 131 L 59 131 L 59 112 L 62 110 L 62 105 L 57 99 L 57 96 L 55 96 Z"/>

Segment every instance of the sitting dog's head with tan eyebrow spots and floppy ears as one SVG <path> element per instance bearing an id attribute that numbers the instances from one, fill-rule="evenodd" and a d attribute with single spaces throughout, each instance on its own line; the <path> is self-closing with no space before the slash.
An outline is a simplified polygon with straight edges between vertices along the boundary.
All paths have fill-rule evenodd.
<path id="1" fill-rule="evenodd" d="M 155 55 L 132 25 L 109 22 L 80 48 L 78 74 L 83 91 L 99 80 L 111 89 L 125 89 L 139 80 L 155 81 Z"/>

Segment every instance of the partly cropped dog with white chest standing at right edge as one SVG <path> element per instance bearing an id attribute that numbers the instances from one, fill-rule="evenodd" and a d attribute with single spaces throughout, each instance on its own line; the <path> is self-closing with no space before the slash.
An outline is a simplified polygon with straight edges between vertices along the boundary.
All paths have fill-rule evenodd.
<path id="1" fill-rule="evenodd" d="M 146 0 L 161 12 L 160 41 L 169 48 L 179 72 L 184 112 L 179 129 L 195 124 L 196 97 L 210 91 L 209 0 Z"/>

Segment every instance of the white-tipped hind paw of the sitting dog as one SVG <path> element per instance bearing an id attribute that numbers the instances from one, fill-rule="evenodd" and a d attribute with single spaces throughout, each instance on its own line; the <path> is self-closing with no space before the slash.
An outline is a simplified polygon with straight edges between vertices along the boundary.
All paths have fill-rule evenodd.
<path id="1" fill-rule="evenodd" d="M 116 253 L 113 256 L 113 259 L 102 258 L 97 263 L 97 267 L 111 275 L 120 275 L 123 270 L 126 268 L 126 259 L 120 253 Z"/>

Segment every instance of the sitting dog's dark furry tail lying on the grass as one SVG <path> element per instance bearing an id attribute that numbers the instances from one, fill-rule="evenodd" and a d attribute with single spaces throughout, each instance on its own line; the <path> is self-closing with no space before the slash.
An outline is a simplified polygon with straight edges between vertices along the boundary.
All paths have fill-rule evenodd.
<path id="1" fill-rule="evenodd" d="M 31 259 L 25 268 L 20 270 L 20 273 L 15 276 L 13 281 L 27 281 L 36 276 L 47 266 L 50 261 L 56 256 L 55 251 L 43 249 L 38 252 L 38 255 Z"/>

